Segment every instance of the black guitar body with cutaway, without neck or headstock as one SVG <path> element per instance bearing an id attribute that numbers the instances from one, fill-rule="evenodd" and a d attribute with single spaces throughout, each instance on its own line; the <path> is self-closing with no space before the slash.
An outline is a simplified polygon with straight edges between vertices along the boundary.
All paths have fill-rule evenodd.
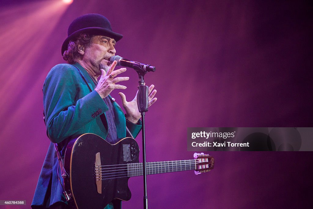
<path id="1" fill-rule="evenodd" d="M 100 153 L 102 168 L 115 170 L 120 175 L 106 175 L 102 180 L 102 194 L 97 191 L 95 156 Z M 124 138 L 110 144 L 98 135 L 87 133 L 69 142 L 64 156 L 64 168 L 69 178 L 64 180 L 65 190 L 71 193 L 78 209 L 102 209 L 114 199 L 127 201 L 131 198 L 125 164 L 138 163 L 139 147 L 133 138 Z M 123 170 L 125 168 L 125 170 Z M 110 173 L 110 172 L 109 172 Z M 116 178 L 117 177 L 117 178 Z"/>

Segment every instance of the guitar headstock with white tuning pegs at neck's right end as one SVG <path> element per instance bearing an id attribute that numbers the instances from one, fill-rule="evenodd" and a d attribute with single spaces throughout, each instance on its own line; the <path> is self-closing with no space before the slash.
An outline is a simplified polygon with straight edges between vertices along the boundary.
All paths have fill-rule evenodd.
<path id="1" fill-rule="evenodd" d="M 214 158 L 209 154 L 195 153 L 193 154 L 194 159 L 196 159 L 196 170 L 195 174 L 201 174 L 210 171 L 214 168 Z"/>

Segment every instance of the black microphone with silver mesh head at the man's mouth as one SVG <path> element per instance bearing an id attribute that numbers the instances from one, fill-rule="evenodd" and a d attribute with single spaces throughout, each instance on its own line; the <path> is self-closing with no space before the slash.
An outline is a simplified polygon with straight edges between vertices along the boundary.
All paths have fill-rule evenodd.
<path id="1" fill-rule="evenodd" d="M 131 61 L 131 60 L 127 60 L 124 59 L 123 57 L 119 56 L 119 55 L 115 55 L 110 57 L 110 62 L 112 63 L 113 61 L 117 61 L 117 65 L 121 65 L 124 67 L 130 67 L 135 69 L 136 71 L 144 71 L 146 72 L 154 72 L 156 71 L 156 67 L 149 65 L 149 64 L 143 64 L 140 62 L 136 62 L 136 61 Z"/>

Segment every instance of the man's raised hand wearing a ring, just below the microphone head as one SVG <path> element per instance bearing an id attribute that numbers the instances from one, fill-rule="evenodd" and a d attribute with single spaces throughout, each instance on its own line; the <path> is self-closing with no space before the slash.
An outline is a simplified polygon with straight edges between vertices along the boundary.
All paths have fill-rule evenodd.
<path id="1" fill-rule="evenodd" d="M 127 81 L 129 77 L 116 77 L 118 74 L 123 73 L 126 71 L 126 68 L 121 68 L 116 71 L 113 71 L 116 66 L 116 61 L 112 63 L 110 69 L 105 73 L 105 70 L 101 69 L 101 78 L 98 82 L 98 85 L 95 88 L 95 91 L 98 92 L 100 97 L 103 99 L 107 97 L 111 91 L 114 89 L 126 89 L 126 86 L 122 86 L 119 84 L 115 84 L 120 81 Z"/>

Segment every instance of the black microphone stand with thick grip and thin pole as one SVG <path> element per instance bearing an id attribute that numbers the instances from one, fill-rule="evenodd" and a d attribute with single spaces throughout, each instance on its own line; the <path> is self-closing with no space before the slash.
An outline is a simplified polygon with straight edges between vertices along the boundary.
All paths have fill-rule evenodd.
<path id="1" fill-rule="evenodd" d="M 139 86 L 138 86 L 138 94 L 137 94 L 137 105 L 138 110 L 141 113 L 141 122 L 142 122 L 142 171 L 143 171 L 143 207 L 148 209 L 148 194 L 147 194 L 147 173 L 146 173 L 146 130 L 145 130 L 145 114 L 148 112 L 148 86 L 145 85 L 145 81 L 143 80 L 143 76 L 148 72 L 146 71 L 146 67 L 142 67 L 141 65 L 134 64 L 133 68 L 137 71 L 139 76 Z M 155 67 L 153 68 L 153 72 L 155 71 Z"/>

